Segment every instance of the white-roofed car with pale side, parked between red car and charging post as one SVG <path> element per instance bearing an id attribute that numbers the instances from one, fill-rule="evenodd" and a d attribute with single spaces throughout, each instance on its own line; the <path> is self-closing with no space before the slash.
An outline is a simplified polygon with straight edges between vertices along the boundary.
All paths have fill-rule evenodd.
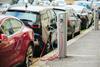
<path id="1" fill-rule="evenodd" d="M 6 12 L 6 15 L 12 15 L 24 22 L 24 24 L 32 28 L 35 32 L 35 44 L 38 46 L 37 56 L 40 56 L 43 48 L 44 53 L 51 51 L 52 34 L 56 31 L 56 15 L 51 8 L 43 6 L 19 6 L 11 7 Z M 52 41 L 52 42 L 51 42 Z"/>

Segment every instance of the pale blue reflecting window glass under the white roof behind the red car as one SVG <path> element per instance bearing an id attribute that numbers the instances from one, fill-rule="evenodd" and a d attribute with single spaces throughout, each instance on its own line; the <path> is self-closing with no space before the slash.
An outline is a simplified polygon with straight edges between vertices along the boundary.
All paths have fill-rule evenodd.
<path id="1" fill-rule="evenodd" d="M 6 15 L 15 16 L 19 19 L 29 20 L 32 21 L 32 23 L 35 23 L 37 20 L 37 14 L 32 12 L 25 12 L 25 11 L 17 11 L 17 10 L 8 10 L 6 12 Z"/>

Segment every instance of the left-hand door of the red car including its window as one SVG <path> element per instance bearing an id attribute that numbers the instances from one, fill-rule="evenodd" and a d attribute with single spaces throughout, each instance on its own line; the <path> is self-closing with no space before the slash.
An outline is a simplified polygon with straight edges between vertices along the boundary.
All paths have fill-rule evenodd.
<path id="1" fill-rule="evenodd" d="M 16 51 L 15 51 L 15 39 L 13 38 L 13 28 L 10 23 L 10 18 L 6 19 L 3 24 L 1 25 L 1 28 L 4 32 L 4 35 L 6 36 L 6 40 L 3 40 L 5 43 L 3 44 L 3 60 L 1 61 L 5 63 L 11 63 L 14 61 L 13 59 L 16 57 Z"/>

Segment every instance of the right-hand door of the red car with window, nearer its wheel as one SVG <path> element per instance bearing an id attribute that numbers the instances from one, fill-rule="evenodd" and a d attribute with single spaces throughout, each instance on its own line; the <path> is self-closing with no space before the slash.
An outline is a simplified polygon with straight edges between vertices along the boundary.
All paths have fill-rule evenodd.
<path id="1" fill-rule="evenodd" d="M 14 31 L 14 34 L 13 34 L 13 37 L 12 37 L 15 40 L 15 45 L 16 45 L 14 47 L 14 49 L 15 49 L 16 53 L 19 54 L 21 46 L 22 46 L 23 41 L 24 41 L 23 36 L 25 36 L 25 34 L 23 32 L 21 32 L 23 25 L 17 19 L 10 19 L 10 22 L 11 22 L 11 25 L 12 25 L 12 28 L 13 28 L 13 31 Z"/>

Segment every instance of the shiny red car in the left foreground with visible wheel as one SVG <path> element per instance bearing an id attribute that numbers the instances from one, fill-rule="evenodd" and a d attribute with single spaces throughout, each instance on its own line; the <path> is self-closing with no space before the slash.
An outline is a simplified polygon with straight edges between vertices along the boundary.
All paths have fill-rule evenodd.
<path id="1" fill-rule="evenodd" d="M 33 35 L 17 18 L 0 15 L 0 67 L 29 67 L 34 53 Z"/>

